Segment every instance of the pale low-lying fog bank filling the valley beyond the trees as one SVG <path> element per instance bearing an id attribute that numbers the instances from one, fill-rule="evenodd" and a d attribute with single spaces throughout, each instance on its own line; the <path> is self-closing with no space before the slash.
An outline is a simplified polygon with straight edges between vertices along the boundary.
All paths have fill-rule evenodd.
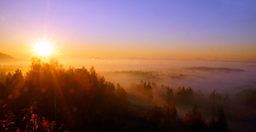
<path id="1" fill-rule="evenodd" d="M 125 89 L 132 82 L 140 80 L 155 82 L 158 85 L 191 87 L 195 91 L 236 93 L 242 89 L 256 89 L 256 64 L 251 62 L 202 61 L 202 60 L 143 60 L 143 59 L 90 59 L 73 60 L 75 67 L 94 66 L 96 71 L 105 76 L 106 81 L 120 83 Z M 199 71 L 186 67 L 227 67 L 244 69 L 236 71 Z M 119 71 L 116 73 L 116 71 Z M 126 72 L 121 72 L 126 71 Z M 127 71 L 153 72 L 153 75 L 134 75 Z"/>

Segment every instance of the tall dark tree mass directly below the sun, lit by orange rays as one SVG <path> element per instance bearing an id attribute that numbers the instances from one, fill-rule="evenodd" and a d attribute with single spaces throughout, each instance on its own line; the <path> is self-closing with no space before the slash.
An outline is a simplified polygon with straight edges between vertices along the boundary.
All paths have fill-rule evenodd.
<path id="1" fill-rule="evenodd" d="M 90 70 L 64 68 L 55 59 L 43 63 L 33 58 L 25 76 L 19 69 L 10 77 L 6 76 L 6 81 L 0 83 L 0 104 L 5 106 L 0 109 L 0 119 L 5 120 L 4 113 L 12 113 L 15 126 L 20 131 L 28 131 L 21 110 L 35 101 L 38 106 L 34 112 L 55 121 L 58 127 L 54 131 L 62 125 L 64 130 L 70 131 L 122 130 L 116 126 L 122 126 L 124 116 L 129 116 L 124 114 L 127 98 L 123 87 L 106 82 L 93 67 Z M 35 115 L 30 118 L 34 119 Z"/>

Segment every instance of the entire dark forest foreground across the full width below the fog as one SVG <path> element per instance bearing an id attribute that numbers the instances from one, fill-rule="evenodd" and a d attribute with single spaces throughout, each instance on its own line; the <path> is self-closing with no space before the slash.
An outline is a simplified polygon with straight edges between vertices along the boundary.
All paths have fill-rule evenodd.
<path id="1" fill-rule="evenodd" d="M 38 58 L 26 74 L 17 69 L 0 77 L 0 131 L 229 131 L 228 119 L 255 121 L 255 90 L 204 95 L 140 81 L 125 91 L 94 67 Z"/>

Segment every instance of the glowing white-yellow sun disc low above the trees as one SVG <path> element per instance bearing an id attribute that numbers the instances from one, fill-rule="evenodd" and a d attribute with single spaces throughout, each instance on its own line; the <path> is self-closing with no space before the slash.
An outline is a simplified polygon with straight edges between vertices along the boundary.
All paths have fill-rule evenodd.
<path id="1" fill-rule="evenodd" d="M 38 56 L 50 56 L 53 51 L 51 42 L 49 41 L 38 41 L 35 43 L 34 50 Z"/>

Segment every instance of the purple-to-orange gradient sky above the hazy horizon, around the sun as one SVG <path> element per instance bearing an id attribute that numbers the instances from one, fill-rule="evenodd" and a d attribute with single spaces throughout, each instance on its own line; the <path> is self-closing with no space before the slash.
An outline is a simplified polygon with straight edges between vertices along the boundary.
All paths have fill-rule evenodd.
<path id="1" fill-rule="evenodd" d="M 256 1 L 0 1 L 0 52 L 44 38 L 57 58 L 256 61 Z"/>

